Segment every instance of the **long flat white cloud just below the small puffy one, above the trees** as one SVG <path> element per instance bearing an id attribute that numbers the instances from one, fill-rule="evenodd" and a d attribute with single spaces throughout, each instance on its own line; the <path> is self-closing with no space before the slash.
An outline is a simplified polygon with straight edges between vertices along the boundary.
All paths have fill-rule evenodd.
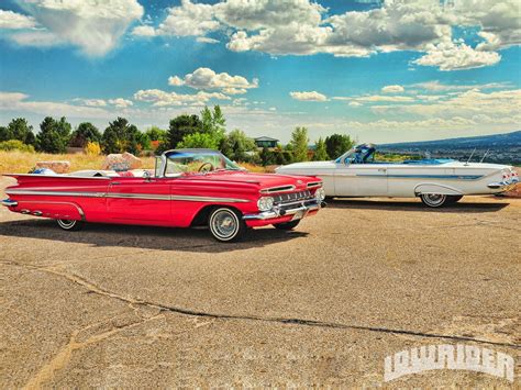
<path id="1" fill-rule="evenodd" d="M 199 91 L 196 94 L 181 94 L 176 92 L 166 92 L 159 89 L 140 90 L 134 93 L 134 99 L 153 103 L 156 107 L 166 105 L 186 105 L 186 104 L 204 104 L 210 99 L 231 100 L 231 98 L 221 92 Z"/>

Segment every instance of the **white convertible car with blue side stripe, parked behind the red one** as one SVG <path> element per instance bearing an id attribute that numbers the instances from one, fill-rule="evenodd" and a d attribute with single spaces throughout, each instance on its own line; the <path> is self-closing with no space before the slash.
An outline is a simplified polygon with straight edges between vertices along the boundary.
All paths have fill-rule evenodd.
<path id="1" fill-rule="evenodd" d="M 513 167 L 453 159 L 375 161 L 376 147 L 364 144 L 333 161 L 296 163 L 277 174 L 322 178 L 326 197 L 420 197 L 431 208 L 457 202 L 466 194 L 510 190 L 519 182 Z"/>

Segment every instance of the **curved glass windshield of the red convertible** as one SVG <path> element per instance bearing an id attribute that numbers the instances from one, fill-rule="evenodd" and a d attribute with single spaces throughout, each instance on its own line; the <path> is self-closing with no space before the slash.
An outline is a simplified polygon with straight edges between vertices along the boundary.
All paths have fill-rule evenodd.
<path id="1" fill-rule="evenodd" d="M 240 166 L 217 151 L 173 151 L 166 155 L 166 176 L 241 169 Z"/>

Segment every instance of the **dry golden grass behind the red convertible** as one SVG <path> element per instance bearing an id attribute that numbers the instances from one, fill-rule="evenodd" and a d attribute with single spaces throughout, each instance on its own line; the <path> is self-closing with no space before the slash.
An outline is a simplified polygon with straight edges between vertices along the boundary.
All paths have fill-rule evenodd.
<path id="1" fill-rule="evenodd" d="M 100 169 L 103 163 L 104 156 L 92 156 L 85 154 L 59 154 L 52 155 L 46 153 L 27 153 L 27 152 L 2 152 L 0 151 L 0 175 L 1 174 L 26 174 L 34 166 L 36 161 L 47 160 L 66 160 L 70 163 L 70 171 L 81 169 Z M 143 161 L 143 168 L 154 169 L 154 157 L 141 157 Z M 271 171 L 270 169 L 253 165 L 253 164 L 241 164 L 244 168 L 252 172 L 265 172 Z"/>

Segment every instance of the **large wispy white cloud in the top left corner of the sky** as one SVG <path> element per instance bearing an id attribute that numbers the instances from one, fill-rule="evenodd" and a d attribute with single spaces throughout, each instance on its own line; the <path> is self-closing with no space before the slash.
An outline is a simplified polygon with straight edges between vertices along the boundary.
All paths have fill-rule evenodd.
<path id="1" fill-rule="evenodd" d="M 21 2 L 45 30 L 13 36 L 20 45 L 49 46 L 70 44 L 88 56 L 103 56 L 119 43 L 129 25 L 143 15 L 136 0 L 31 0 Z"/>

